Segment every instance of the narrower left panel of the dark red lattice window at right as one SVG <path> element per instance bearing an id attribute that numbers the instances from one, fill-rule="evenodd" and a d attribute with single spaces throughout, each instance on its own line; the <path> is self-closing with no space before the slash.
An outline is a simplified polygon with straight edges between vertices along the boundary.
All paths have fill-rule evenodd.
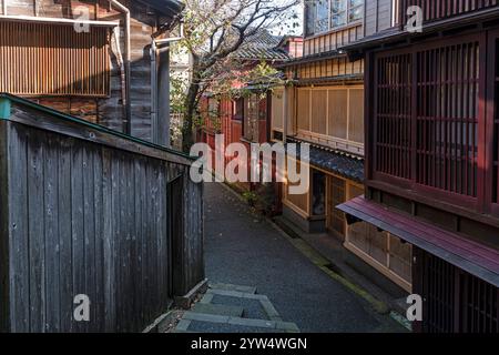
<path id="1" fill-rule="evenodd" d="M 376 170 L 410 179 L 411 54 L 379 58 L 377 62 Z"/>

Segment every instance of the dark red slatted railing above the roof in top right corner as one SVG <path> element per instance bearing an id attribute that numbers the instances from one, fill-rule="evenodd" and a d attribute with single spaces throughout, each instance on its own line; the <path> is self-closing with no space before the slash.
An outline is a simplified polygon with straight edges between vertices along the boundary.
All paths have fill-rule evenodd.
<path id="1" fill-rule="evenodd" d="M 499 0 L 399 0 L 399 23 L 404 28 L 409 7 L 422 9 L 424 22 L 444 20 L 455 16 L 499 6 Z"/>

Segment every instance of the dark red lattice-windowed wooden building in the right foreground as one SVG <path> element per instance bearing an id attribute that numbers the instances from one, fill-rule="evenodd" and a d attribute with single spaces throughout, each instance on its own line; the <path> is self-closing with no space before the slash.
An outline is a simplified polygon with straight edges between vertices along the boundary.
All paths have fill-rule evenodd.
<path id="1" fill-rule="evenodd" d="M 417 329 L 497 333 L 499 3 L 373 2 L 368 36 L 344 48 L 365 59 L 366 193 L 339 209 L 413 245 Z"/>

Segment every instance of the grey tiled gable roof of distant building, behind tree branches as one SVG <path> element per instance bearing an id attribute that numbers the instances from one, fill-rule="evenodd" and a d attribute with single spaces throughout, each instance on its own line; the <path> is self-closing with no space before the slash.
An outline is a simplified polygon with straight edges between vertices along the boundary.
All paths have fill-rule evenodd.
<path id="1" fill-rule="evenodd" d="M 248 37 L 241 48 L 234 53 L 234 58 L 245 60 L 276 60 L 289 59 L 286 51 L 278 48 L 282 37 L 273 36 L 267 30 L 259 30 Z"/>

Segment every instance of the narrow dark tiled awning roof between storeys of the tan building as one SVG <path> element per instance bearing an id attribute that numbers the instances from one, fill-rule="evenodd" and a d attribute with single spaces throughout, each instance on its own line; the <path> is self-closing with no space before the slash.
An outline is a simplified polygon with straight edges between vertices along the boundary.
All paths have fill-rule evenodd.
<path id="1" fill-rule="evenodd" d="M 294 140 L 293 142 L 299 143 Z M 299 148 L 297 153 L 299 154 Z M 364 159 L 340 151 L 310 145 L 310 165 L 359 183 L 364 182 Z"/>

